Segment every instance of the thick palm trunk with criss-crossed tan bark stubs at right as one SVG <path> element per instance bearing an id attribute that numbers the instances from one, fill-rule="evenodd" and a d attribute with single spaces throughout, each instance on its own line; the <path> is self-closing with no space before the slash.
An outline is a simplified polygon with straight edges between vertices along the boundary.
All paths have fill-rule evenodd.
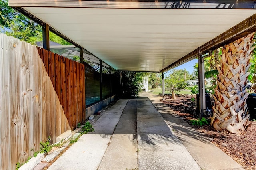
<path id="1" fill-rule="evenodd" d="M 211 125 L 218 131 L 242 132 L 248 126 L 246 99 L 247 70 L 250 67 L 254 47 L 254 33 L 236 40 L 222 49 L 222 60 L 218 69 L 217 87 L 214 94 L 214 114 Z M 251 48 L 252 47 L 252 48 Z"/>

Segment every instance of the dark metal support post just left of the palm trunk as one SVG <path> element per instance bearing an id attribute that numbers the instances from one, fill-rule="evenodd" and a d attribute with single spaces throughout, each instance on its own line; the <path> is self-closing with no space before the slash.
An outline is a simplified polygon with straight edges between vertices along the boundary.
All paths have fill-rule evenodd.
<path id="1" fill-rule="evenodd" d="M 199 116 L 202 118 L 204 116 L 204 75 L 203 75 L 203 62 L 202 54 L 198 53 L 198 83 L 199 83 Z"/>

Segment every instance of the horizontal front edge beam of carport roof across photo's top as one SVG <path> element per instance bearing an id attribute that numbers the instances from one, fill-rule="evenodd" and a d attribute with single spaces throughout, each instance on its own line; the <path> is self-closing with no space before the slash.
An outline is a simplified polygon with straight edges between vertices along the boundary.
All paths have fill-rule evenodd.
<path id="1" fill-rule="evenodd" d="M 10 6 L 133 9 L 255 9 L 253 0 L 9 0 Z"/>

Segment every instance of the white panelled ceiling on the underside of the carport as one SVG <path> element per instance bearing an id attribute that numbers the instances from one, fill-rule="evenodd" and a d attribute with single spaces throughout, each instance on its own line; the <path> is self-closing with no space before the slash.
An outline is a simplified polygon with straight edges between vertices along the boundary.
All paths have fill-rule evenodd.
<path id="1" fill-rule="evenodd" d="M 255 9 L 23 7 L 117 70 L 161 71 Z"/>

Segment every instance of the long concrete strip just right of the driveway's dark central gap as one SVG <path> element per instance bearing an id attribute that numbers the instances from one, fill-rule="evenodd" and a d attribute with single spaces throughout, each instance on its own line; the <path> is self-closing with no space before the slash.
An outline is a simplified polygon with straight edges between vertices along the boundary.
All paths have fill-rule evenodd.
<path id="1" fill-rule="evenodd" d="M 138 168 L 200 170 L 200 166 L 159 115 L 150 101 L 137 102 Z"/>

